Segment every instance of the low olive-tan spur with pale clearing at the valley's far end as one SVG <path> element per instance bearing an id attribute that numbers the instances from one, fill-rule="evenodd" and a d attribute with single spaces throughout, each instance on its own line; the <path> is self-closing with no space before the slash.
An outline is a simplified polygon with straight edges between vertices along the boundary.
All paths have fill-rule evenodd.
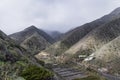
<path id="1" fill-rule="evenodd" d="M 54 43 L 36 55 L 37 59 L 44 60 L 46 63 L 56 63 L 58 57 L 68 48 L 61 44 L 61 41 Z"/>

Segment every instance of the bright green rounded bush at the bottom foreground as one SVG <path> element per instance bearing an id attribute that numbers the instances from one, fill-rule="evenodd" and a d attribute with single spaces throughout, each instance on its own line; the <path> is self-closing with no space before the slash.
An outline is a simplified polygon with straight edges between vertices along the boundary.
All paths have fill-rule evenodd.
<path id="1" fill-rule="evenodd" d="M 21 72 L 26 80 L 53 80 L 53 73 L 37 66 L 29 66 Z"/>

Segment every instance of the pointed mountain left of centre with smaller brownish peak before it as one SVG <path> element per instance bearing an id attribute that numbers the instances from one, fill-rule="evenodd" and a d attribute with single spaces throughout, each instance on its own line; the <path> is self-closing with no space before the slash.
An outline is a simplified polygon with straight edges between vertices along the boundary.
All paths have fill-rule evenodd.
<path id="1" fill-rule="evenodd" d="M 17 32 L 9 36 L 25 49 L 30 52 L 32 51 L 33 54 L 44 50 L 50 44 L 55 42 L 55 40 L 47 33 L 35 26 L 30 26 L 21 32 Z"/>

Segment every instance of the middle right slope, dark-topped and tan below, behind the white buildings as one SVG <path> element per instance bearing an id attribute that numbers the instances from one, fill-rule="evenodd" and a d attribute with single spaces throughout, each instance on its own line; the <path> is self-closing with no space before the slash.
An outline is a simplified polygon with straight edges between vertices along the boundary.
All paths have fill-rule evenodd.
<path id="1" fill-rule="evenodd" d="M 102 26 L 91 31 L 82 40 L 72 46 L 65 54 L 81 54 L 89 50 L 85 54 L 100 49 L 104 44 L 115 39 L 120 35 L 120 18 L 110 21 Z"/>

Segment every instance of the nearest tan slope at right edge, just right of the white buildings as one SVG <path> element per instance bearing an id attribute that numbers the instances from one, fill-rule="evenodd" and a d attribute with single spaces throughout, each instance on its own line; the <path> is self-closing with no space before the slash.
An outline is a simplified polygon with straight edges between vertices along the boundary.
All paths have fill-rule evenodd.
<path id="1" fill-rule="evenodd" d="M 90 64 L 106 67 L 120 74 L 120 36 L 97 50 L 93 57 L 93 60 L 88 61 Z"/>

